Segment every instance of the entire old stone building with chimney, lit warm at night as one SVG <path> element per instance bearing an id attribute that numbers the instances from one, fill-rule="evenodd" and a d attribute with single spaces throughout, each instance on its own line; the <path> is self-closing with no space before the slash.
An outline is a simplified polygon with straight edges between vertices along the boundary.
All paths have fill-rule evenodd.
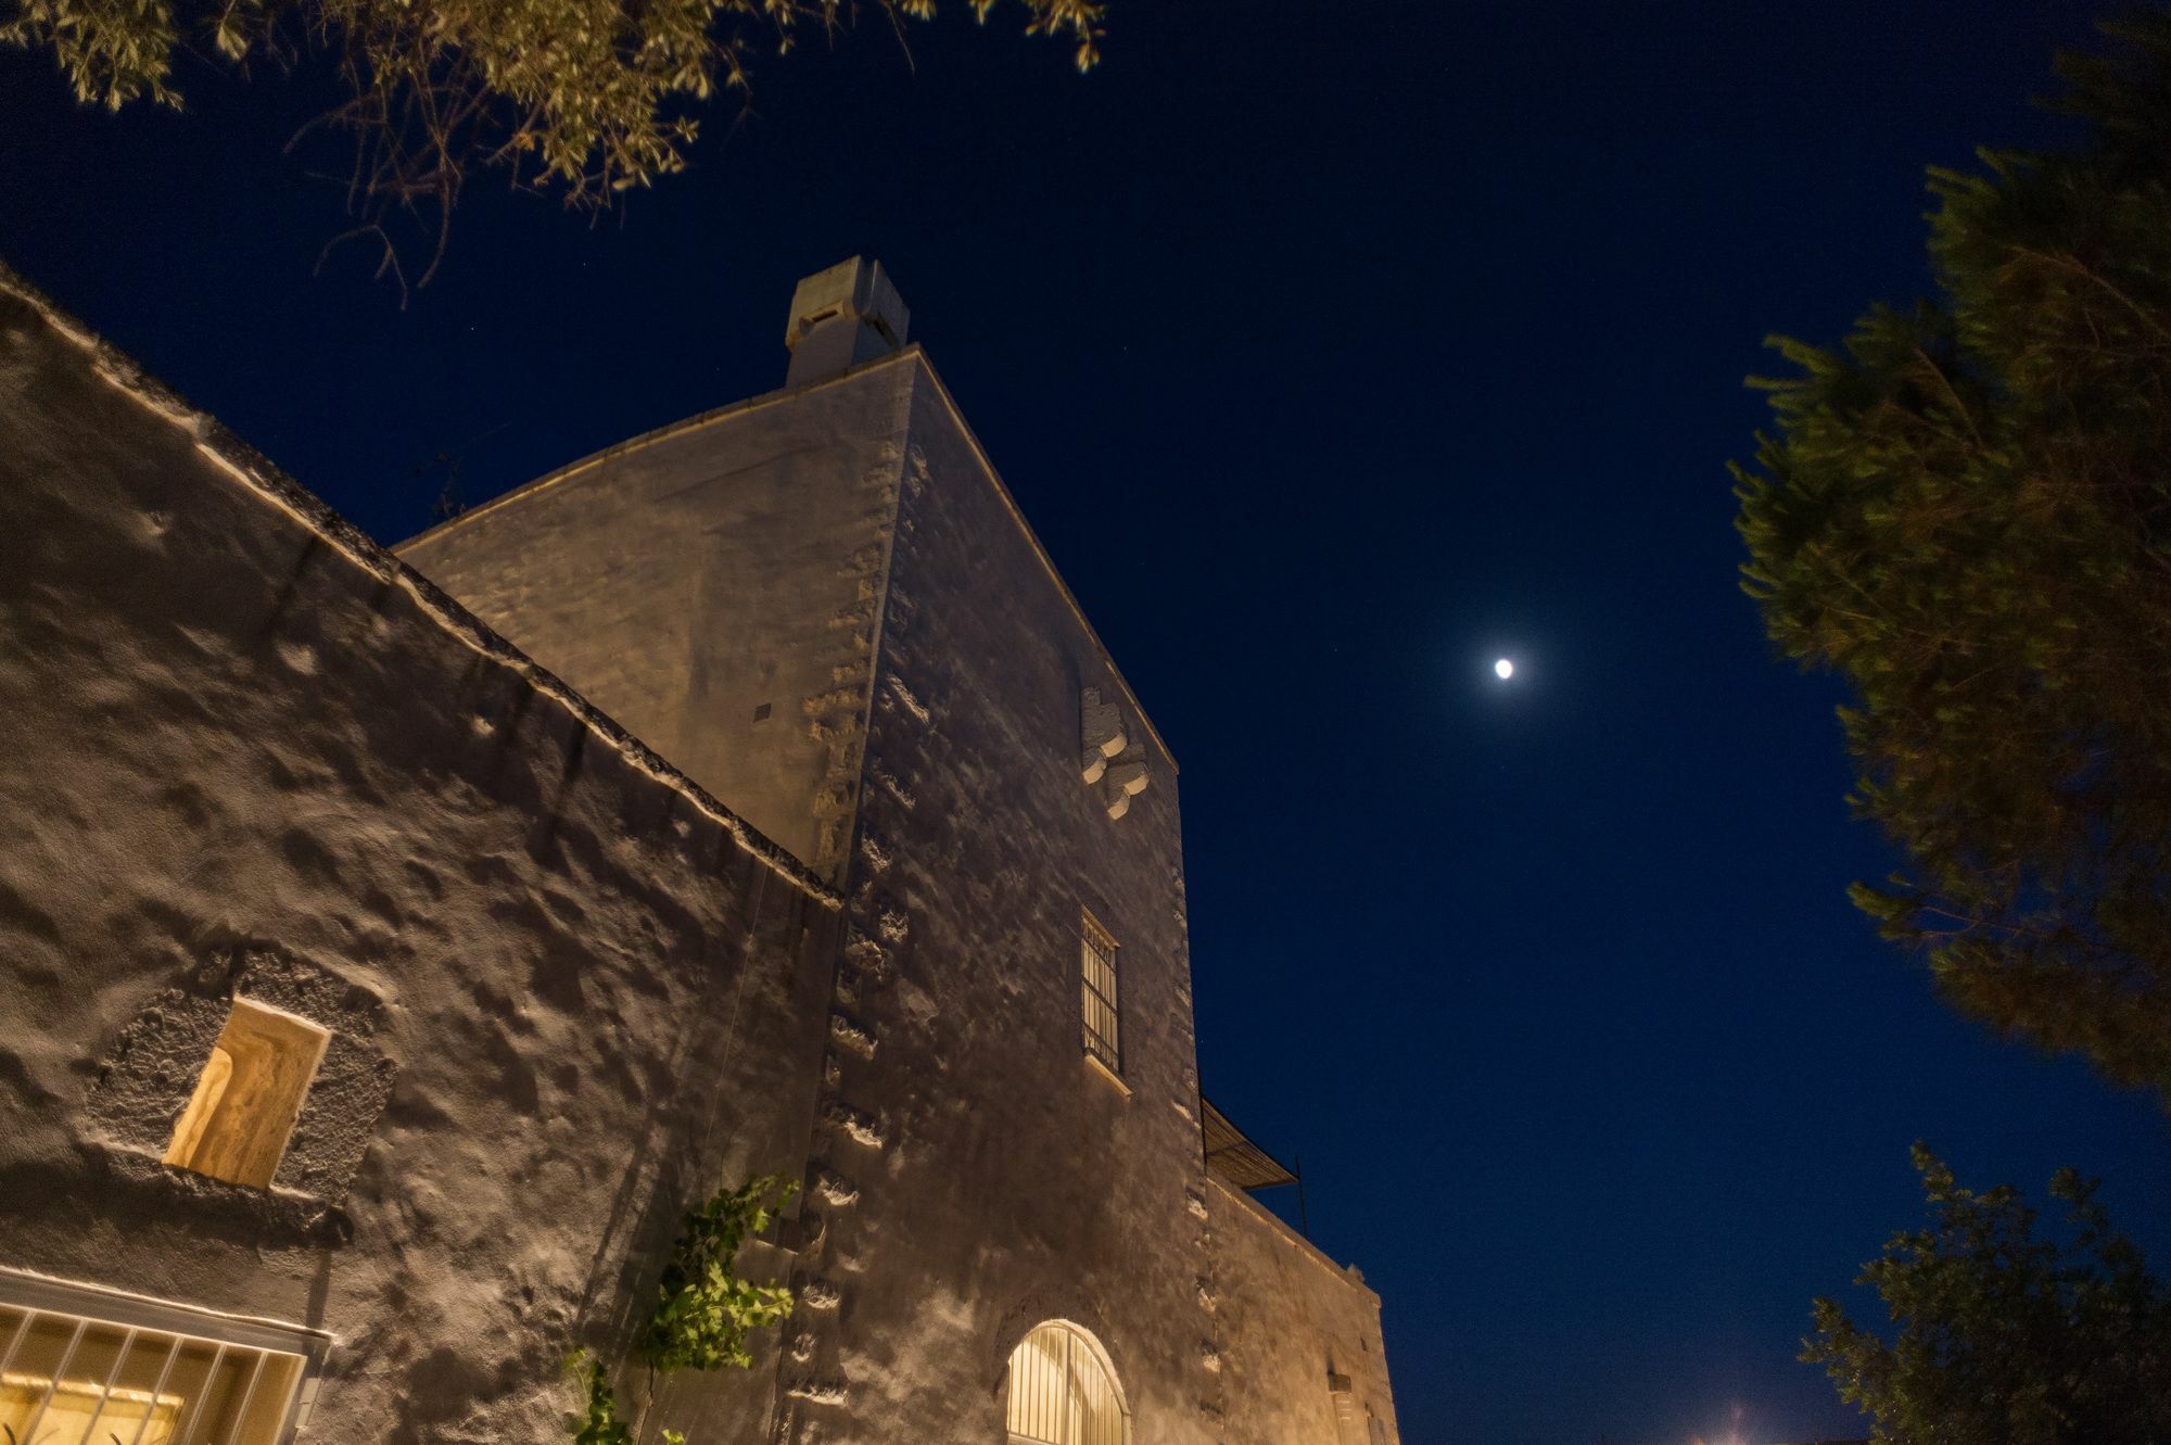
<path id="1" fill-rule="evenodd" d="M 382 551 L 0 273 L 0 1425 L 1392 1445 L 1198 1089 L 1177 764 L 879 267 Z M 680 1217 L 803 1180 L 751 1369 Z"/>

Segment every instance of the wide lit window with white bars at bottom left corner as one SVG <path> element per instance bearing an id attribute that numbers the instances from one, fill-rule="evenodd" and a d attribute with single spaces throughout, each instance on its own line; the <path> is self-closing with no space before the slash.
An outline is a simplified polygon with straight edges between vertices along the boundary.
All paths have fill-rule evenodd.
<path id="1" fill-rule="evenodd" d="M 33 1276 L 0 1295 L 0 1438 L 22 1445 L 278 1445 L 326 1343 Z"/>

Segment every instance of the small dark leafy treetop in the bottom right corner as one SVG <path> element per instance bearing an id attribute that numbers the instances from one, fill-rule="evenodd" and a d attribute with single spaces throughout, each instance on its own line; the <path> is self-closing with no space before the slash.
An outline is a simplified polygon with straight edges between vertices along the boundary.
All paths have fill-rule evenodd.
<path id="1" fill-rule="evenodd" d="M 1817 1300 L 1802 1347 L 1871 1415 L 1874 1443 L 2171 1443 L 2171 1293 L 2095 1185 L 2052 1180 L 2067 1230 L 2043 1239 L 2017 1189 L 1960 1189 L 1919 1143 L 1915 1167 L 1928 1228 L 1895 1235 L 1856 1280 L 1884 1297 L 1891 1339 Z"/>

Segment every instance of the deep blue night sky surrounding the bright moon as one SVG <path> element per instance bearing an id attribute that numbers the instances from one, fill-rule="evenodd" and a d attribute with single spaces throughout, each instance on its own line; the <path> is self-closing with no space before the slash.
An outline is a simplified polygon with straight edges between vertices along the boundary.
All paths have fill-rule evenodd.
<path id="1" fill-rule="evenodd" d="M 2156 1107 L 1845 903 L 1887 859 L 1724 473 L 1765 332 L 1921 291 L 1924 165 L 2060 135 L 2089 7 L 1114 0 L 1079 78 L 944 4 L 601 226 L 478 184 L 404 312 L 310 273 L 321 89 L 111 119 L 0 56 L 0 256 L 386 542 L 779 386 L 792 280 L 879 256 L 1183 764 L 1207 1094 L 1303 1154 L 1411 1445 L 1863 1434 L 1793 1356 L 1917 1137 L 2171 1263 Z"/>

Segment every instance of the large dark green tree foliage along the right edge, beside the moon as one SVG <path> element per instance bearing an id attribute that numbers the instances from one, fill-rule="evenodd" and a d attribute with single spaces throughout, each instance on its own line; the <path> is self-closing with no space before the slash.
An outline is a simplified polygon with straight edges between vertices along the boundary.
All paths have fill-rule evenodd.
<path id="1" fill-rule="evenodd" d="M 1832 668 L 1856 885 L 1943 994 L 2171 1098 L 2171 17 L 2065 56 L 2086 143 L 1932 171 L 1937 299 L 1778 338 L 1745 590 Z"/>

